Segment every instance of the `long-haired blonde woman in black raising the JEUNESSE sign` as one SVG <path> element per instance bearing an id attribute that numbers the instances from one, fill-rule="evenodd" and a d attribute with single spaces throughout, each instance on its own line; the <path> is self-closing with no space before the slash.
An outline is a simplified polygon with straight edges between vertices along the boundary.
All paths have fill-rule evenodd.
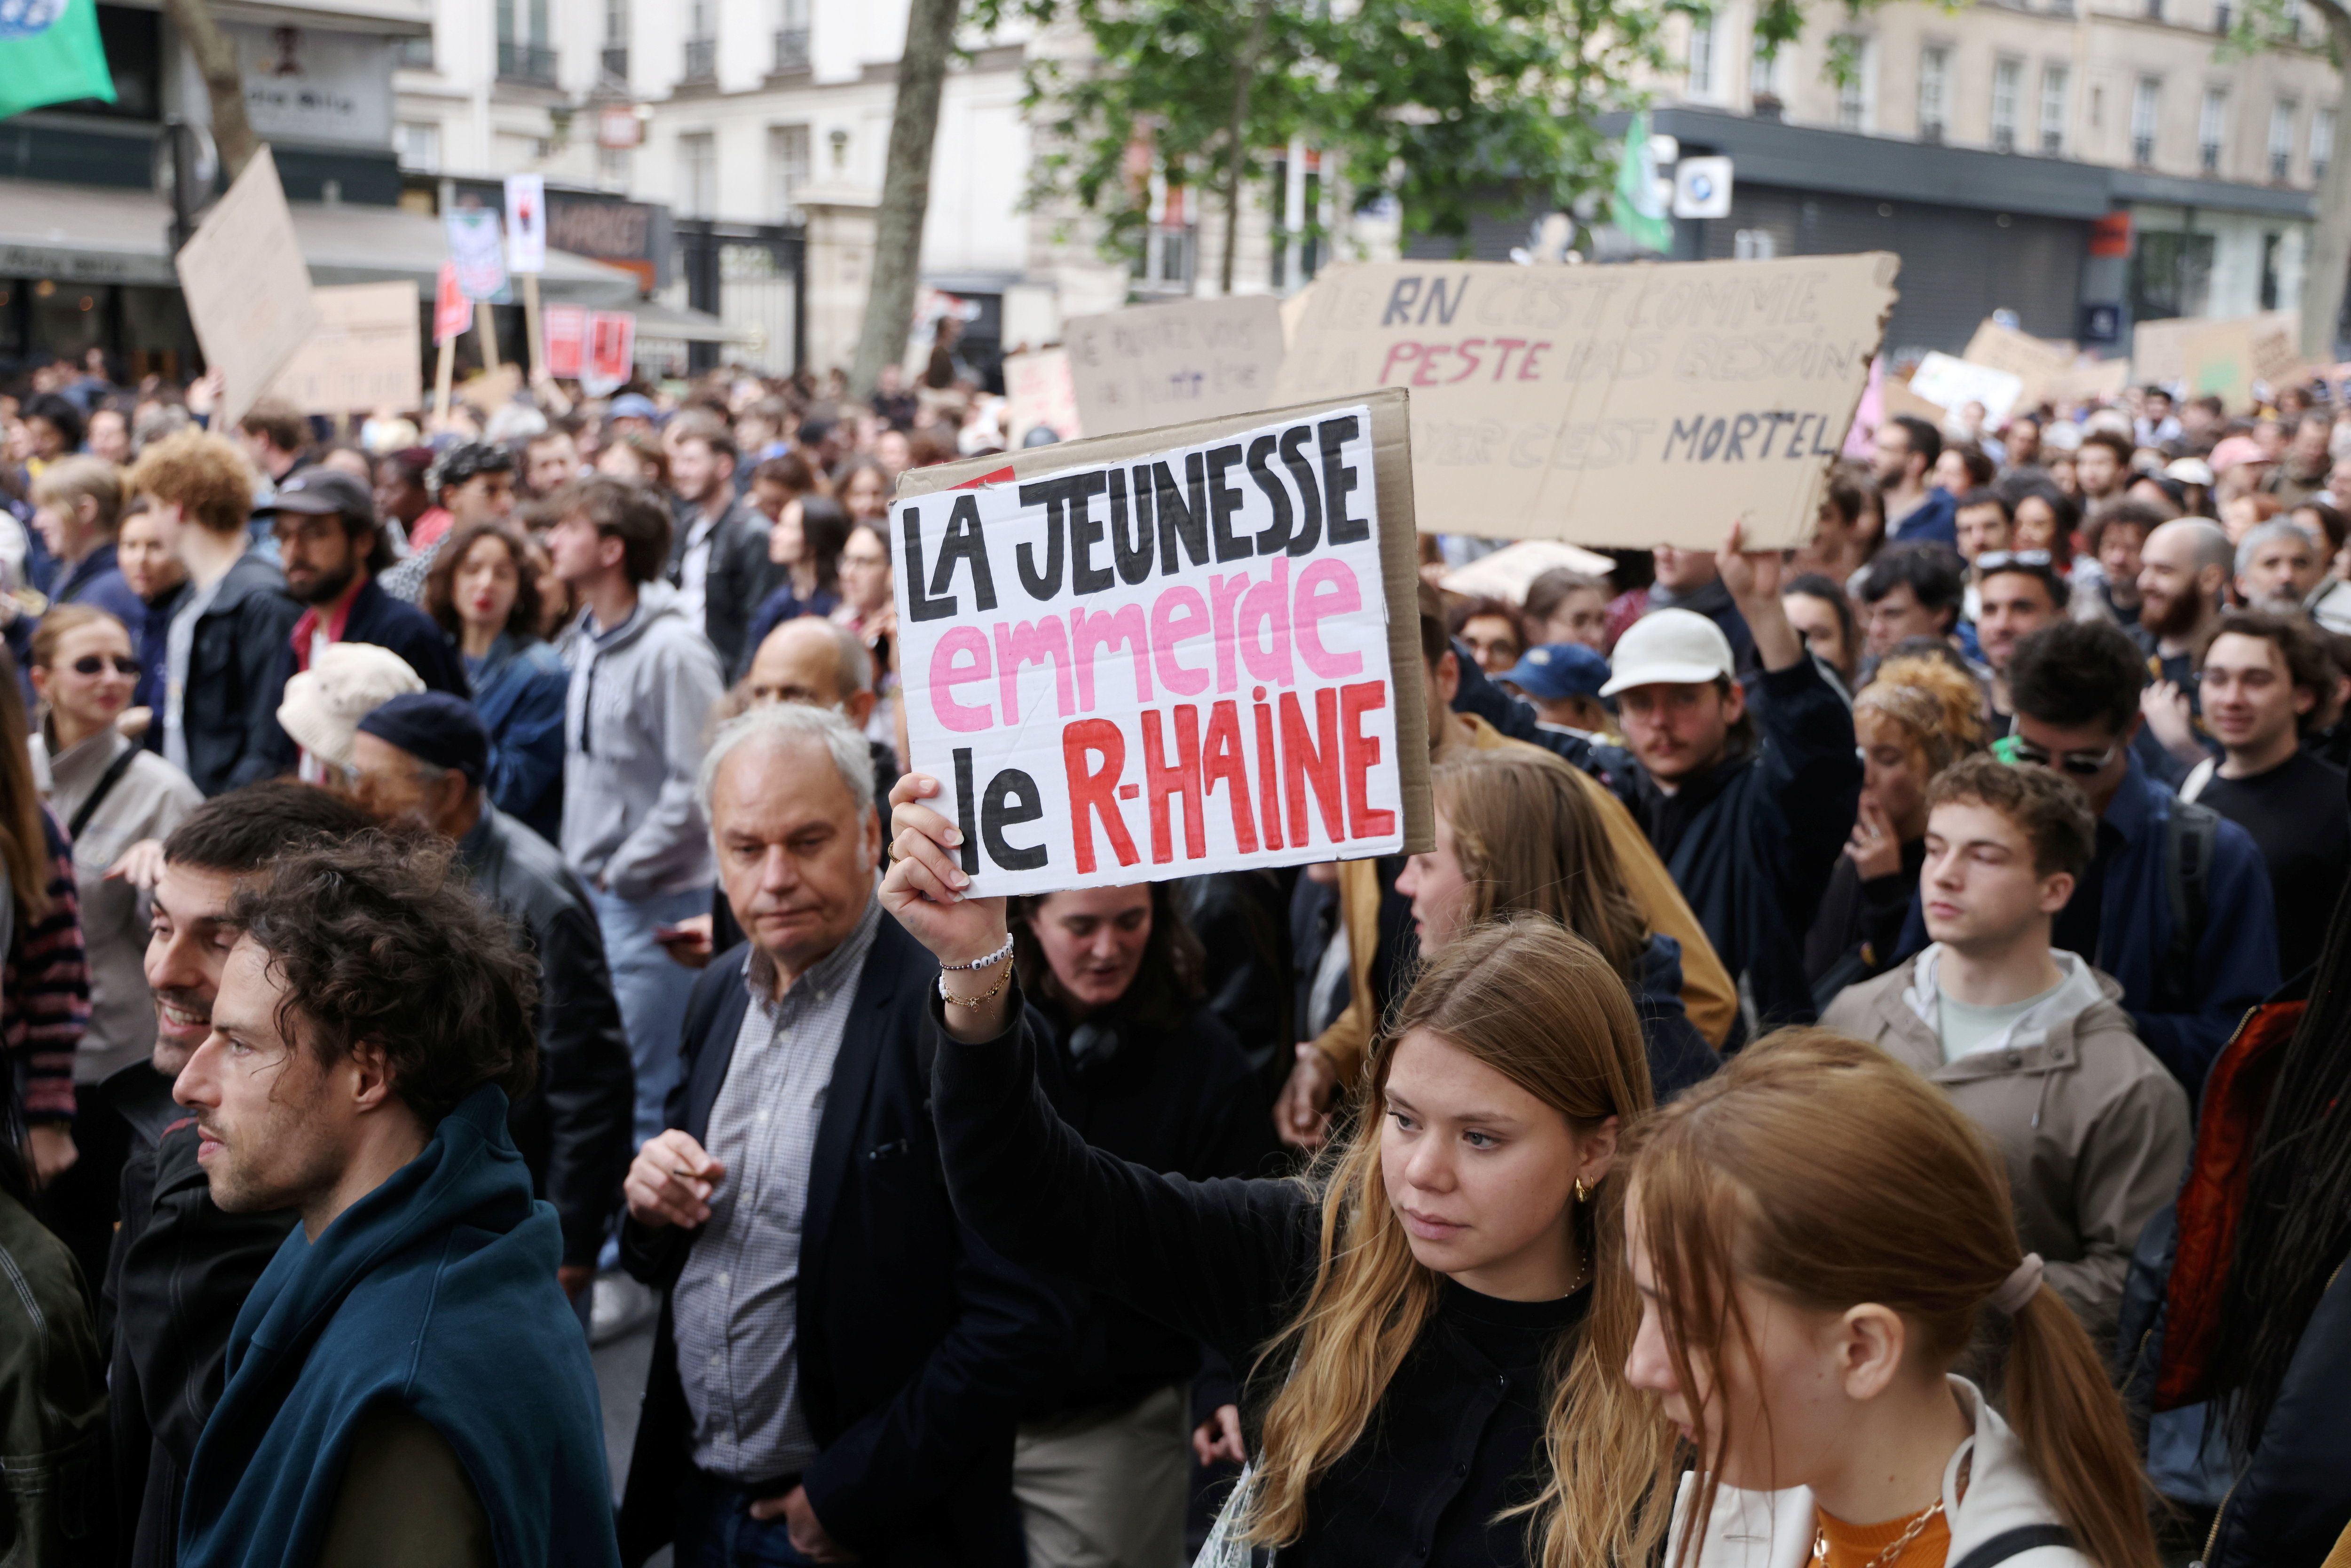
<path id="1" fill-rule="evenodd" d="M 1159 1175 L 1065 1126 L 1004 900 L 907 776 L 882 905 L 943 964 L 933 1117 L 957 1213 L 1013 1262 L 1246 1368 L 1251 1472 L 1206 1561 L 1648 1561 L 1672 1429 L 1625 1387 L 1639 1302 L 1620 1128 L 1650 1105 L 1617 964 L 1521 914 L 1451 940 L 1366 1065 L 1366 1117 L 1305 1180 Z"/>

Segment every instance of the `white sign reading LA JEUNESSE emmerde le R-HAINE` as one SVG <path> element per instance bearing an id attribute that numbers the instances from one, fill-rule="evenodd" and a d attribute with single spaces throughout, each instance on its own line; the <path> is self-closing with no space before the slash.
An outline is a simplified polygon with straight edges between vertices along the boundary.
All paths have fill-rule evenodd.
<path id="1" fill-rule="evenodd" d="M 915 468 L 891 545 L 976 896 L 1432 842 L 1404 393 Z"/>

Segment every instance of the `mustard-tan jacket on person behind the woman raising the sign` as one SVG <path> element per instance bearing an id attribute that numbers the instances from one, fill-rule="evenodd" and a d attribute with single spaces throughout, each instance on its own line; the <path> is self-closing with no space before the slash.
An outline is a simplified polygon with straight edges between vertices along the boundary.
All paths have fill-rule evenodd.
<path id="1" fill-rule="evenodd" d="M 1528 745 L 1526 741 L 1512 741 L 1498 731 L 1486 719 L 1474 712 L 1453 715 L 1467 731 L 1469 745 L 1476 750 L 1495 750 L 1502 745 L 1516 745 L 1535 752 L 1538 757 L 1552 757 L 1540 745 Z M 1561 766 L 1566 766 L 1561 762 Z M 1617 851 L 1617 867 L 1625 872 L 1625 891 L 1632 900 L 1641 905 L 1641 914 L 1648 919 L 1648 929 L 1657 936 L 1669 936 L 1681 943 L 1681 1006 L 1690 1013 L 1690 1023 L 1697 1032 L 1707 1037 L 1716 1051 L 1723 1039 L 1730 1037 L 1730 1020 L 1737 1016 L 1740 997 L 1730 985 L 1730 971 L 1723 961 L 1714 957 L 1714 943 L 1707 940 L 1704 929 L 1697 917 L 1690 914 L 1688 900 L 1681 889 L 1674 886 L 1674 877 L 1665 870 L 1665 860 L 1650 849 L 1648 835 L 1641 825 L 1632 820 L 1632 811 L 1625 809 L 1615 795 L 1610 795 L 1596 778 L 1582 769 L 1568 769 L 1578 788 L 1592 799 L 1601 811 L 1601 820 L 1608 823 L 1608 842 Z M 1331 1020 L 1314 1044 L 1331 1065 L 1338 1067 L 1338 1081 L 1352 1084 L 1357 1070 L 1364 1065 L 1364 1056 L 1371 1051 L 1371 1037 L 1378 1027 L 1371 1006 L 1371 964 L 1380 950 L 1380 863 L 1378 860 L 1340 860 L 1338 865 L 1338 907 L 1347 919 L 1347 1009 Z"/>

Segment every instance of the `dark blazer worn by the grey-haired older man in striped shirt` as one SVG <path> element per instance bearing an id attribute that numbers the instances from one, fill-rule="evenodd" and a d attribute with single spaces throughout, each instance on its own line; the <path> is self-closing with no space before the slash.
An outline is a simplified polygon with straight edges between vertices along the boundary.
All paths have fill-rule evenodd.
<path id="1" fill-rule="evenodd" d="M 748 947 L 694 985 L 668 1124 L 696 1140 L 750 1006 Z M 802 1474 L 825 1530 L 865 1563 L 1025 1561 L 1011 1490 L 1013 1427 L 1070 1354 L 1067 1293 L 997 1258 L 957 1222 L 931 1128 L 938 964 L 884 919 L 832 1065 L 809 1164 L 795 1333 L 799 1399 L 820 1448 Z M 621 1262 L 663 1293 L 694 1232 L 621 1227 Z M 663 1300 L 637 1450 L 621 1502 L 621 1561 L 675 1535 L 691 1465 L 670 1302 Z"/>

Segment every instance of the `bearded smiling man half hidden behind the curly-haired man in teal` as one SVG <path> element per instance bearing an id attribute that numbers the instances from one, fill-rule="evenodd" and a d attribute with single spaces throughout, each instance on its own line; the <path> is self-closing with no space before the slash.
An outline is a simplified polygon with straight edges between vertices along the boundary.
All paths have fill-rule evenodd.
<path id="1" fill-rule="evenodd" d="M 273 780 L 205 802 L 162 844 L 146 952 L 155 1056 L 103 1084 L 132 1126 L 103 1291 L 115 1340 L 108 1387 L 125 1516 L 120 1561 L 129 1568 L 176 1561 L 181 1486 L 195 1434 L 221 1396 L 228 1328 L 294 1227 L 292 1213 L 230 1215 L 214 1206 L 195 1121 L 172 1103 L 172 1079 L 212 1034 L 230 947 L 228 898 L 266 860 L 367 825 L 336 795 Z"/>

